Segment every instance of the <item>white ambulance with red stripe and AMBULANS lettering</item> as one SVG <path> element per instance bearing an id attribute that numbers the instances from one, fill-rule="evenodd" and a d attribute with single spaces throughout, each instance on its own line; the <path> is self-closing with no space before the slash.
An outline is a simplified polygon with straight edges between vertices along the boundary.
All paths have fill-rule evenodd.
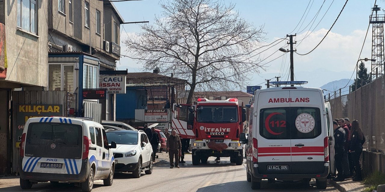
<path id="1" fill-rule="evenodd" d="M 285 86 L 257 90 L 248 139 L 244 134 L 239 139 L 248 149 L 246 174 L 251 188 L 259 189 L 262 179 L 308 185 L 315 178 L 317 188 L 325 189 L 330 167 L 329 136 L 333 135 L 326 115 L 321 89 Z"/>

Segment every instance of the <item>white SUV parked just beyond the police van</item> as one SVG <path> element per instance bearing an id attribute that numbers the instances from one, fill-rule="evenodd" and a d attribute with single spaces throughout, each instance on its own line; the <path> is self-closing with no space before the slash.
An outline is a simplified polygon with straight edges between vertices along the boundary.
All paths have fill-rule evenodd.
<path id="1" fill-rule="evenodd" d="M 116 142 L 112 149 L 115 172 L 132 172 L 135 178 L 142 171 L 152 173 L 152 147 L 144 131 L 111 130 L 106 132 L 108 141 Z"/>

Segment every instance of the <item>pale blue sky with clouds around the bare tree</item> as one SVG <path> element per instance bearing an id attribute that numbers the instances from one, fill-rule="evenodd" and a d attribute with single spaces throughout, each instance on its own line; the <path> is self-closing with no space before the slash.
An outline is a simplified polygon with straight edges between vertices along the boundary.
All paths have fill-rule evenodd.
<path id="1" fill-rule="evenodd" d="M 165 2 L 167 1 L 165 0 Z M 345 0 L 224 1 L 234 3 L 234 10 L 238 11 L 240 16 L 248 22 L 253 23 L 256 27 L 264 26 L 266 35 L 262 45 L 268 45 L 277 39 L 284 38 L 287 34 L 296 34 L 294 46 L 296 53 L 299 54 L 308 53 L 316 47 L 335 22 L 345 4 Z M 374 3 L 375 0 L 348 0 L 337 22 L 314 51 L 303 56 L 294 53 L 295 80 L 308 81 L 306 86 L 318 88 L 331 81 L 354 79 L 357 60 L 359 58 L 371 58 L 372 55 L 372 25 L 368 30 L 365 43 L 364 39 Z M 151 25 L 155 16 L 162 17 L 159 0 L 132 0 L 115 2 L 114 4 L 125 22 L 149 21 Z M 377 0 L 376 4 L 378 7 L 385 8 L 385 1 L 383 0 Z M 384 12 L 379 11 L 378 14 L 384 14 Z M 121 41 L 140 31 L 139 24 L 122 25 Z M 290 80 L 288 73 L 290 53 L 277 51 L 281 47 L 290 48 L 287 43 L 287 40 L 281 41 L 276 46 L 259 54 L 261 59 L 265 59 L 261 64 L 265 64 L 266 68 L 258 74 L 251 75 L 247 86 L 261 85 L 265 87 L 265 79 L 273 81 L 276 80 L 275 76 L 280 76 L 280 81 Z M 363 51 L 360 55 L 362 46 Z M 121 54 L 129 55 L 122 42 Z M 365 65 L 370 72 L 370 61 L 366 62 Z M 136 61 L 122 56 L 121 60 L 117 62 L 117 69 L 126 70 L 126 68 L 129 72 L 144 71 Z M 353 81 L 350 81 L 349 84 L 351 83 Z M 239 90 L 245 91 L 246 85 Z"/>

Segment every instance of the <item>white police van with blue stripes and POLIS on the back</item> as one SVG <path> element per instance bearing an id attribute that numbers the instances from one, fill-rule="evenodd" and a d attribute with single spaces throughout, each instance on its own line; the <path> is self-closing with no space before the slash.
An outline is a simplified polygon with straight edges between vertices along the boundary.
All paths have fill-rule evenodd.
<path id="1" fill-rule="evenodd" d="M 90 192 L 94 180 L 112 185 L 114 155 L 101 124 L 84 119 L 43 117 L 25 123 L 20 144 L 20 187 L 38 182 L 80 183 Z"/>

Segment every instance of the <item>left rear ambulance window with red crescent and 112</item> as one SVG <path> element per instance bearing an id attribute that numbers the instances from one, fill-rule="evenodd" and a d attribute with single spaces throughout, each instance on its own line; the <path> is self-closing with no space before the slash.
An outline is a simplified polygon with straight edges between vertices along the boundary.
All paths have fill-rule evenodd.
<path id="1" fill-rule="evenodd" d="M 259 119 L 259 133 L 266 139 L 290 139 L 290 129 L 287 114 L 289 108 L 261 109 Z"/>

